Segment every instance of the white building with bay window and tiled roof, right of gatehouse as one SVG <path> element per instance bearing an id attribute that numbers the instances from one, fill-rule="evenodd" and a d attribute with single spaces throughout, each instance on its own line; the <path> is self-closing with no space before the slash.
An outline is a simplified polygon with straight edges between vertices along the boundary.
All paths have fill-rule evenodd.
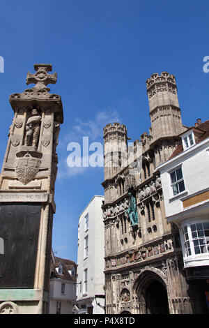
<path id="1" fill-rule="evenodd" d="M 160 170 L 166 218 L 180 232 L 185 274 L 199 313 L 209 313 L 209 120 L 180 135 Z"/>

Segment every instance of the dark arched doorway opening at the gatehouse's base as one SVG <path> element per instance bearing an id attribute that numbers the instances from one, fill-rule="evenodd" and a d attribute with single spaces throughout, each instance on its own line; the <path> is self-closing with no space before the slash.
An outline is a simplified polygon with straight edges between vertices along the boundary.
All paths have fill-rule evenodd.
<path id="1" fill-rule="evenodd" d="M 169 314 L 167 285 L 163 274 L 145 269 L 134 283 L 140 314 Z"/>

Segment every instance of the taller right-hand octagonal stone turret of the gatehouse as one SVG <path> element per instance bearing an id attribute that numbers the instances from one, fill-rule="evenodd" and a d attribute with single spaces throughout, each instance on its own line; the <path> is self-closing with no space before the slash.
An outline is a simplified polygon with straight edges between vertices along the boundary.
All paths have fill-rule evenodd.
<path id="1" fill-rule="evenodd" d="M 176 78 L 167 72 L 154 73 L 146 80 L 150 107 L 152 142 L 162 137 L 173 137 L 183 132 Z"/>

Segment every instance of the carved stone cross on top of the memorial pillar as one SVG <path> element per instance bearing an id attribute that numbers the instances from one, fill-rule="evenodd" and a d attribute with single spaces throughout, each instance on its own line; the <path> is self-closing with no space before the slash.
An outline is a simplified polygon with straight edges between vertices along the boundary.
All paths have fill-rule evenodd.
<path id="1" fill-rule="evenodd" d="M 50 89 L 47 86 L 49 83 L 56 83 L 56 77 L 57 74 L 48 74 L 48 72 L 52 71 L 52 65 L 51 64 L 35 64 L 34 70 L 36 70 L 35 74 L 32 74 L 30 72 L 27 73 L 26 76 L 26 84 L 35 83 L 36 85 L 33 87 L 36 89 L 45 89 L 47 91 L 50 91 Z"/>

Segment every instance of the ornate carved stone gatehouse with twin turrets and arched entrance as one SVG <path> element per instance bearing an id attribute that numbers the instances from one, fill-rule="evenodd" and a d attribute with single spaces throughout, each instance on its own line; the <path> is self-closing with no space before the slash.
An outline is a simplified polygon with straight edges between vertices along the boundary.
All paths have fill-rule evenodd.
<path id="1" fill-rule="evenodd" d="M 151 128 L 149 135 L 141 135 L 141 174 L 133 174 L 132 165 L 120 162 L 128 151 L 125 126 L 114 123 L 104 128 L 104 159 L 108 158 L 105 163 L 109 164 L 104 167 L 102 182 L 106 310 L 107 314 L 192 313 L 178 228 L 165 219 L 156 170 L 171 156 L 180 142 L 178 135 L 184 131 L 176 79 L 166 72 L 153 74 L 146 86 Z M 105 149 L 107 142 L 114 142 L 112 149 L 119 151 L 117 167 L 114 151 Z M 134 221 L 130 195 L 137 207 Z"/>

